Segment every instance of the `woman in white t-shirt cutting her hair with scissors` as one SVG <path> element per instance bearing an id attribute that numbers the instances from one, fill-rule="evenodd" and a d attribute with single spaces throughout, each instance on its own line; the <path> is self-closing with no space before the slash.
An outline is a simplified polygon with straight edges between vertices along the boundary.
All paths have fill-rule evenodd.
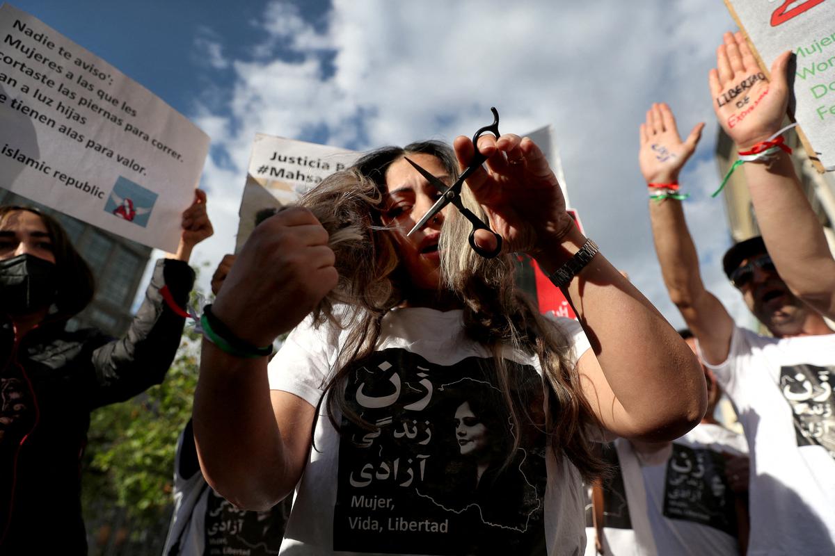
<path id="1" fill-rule="evenodd" d="M 426 218 L 434 179 L 453 183 L 476 148 L 487 160 L 463 203 L 500 235 L 500 248 L 473 237 L 495 258 L 473 251 L 453 205 Z M 514 252 L 534 255 L 579 322 L 515 288 Z M 381 148 L 332 174 L 255 228 L 203 321 L 200 467 L 240 508 L 296 492 L 282 554 L 582 553 L 581 477 L 605 469 L 595 439 L 676 438 L 705 410 L 691 350 L 514 134 Z M 495 514 L 473 503 L 478 471 L 454 433 L 467 409 L 484 425 L 473 448 L 493 451 L 477 490 L 492 488 Z M 502 468 L 514 480 L 493 480 Z"/>

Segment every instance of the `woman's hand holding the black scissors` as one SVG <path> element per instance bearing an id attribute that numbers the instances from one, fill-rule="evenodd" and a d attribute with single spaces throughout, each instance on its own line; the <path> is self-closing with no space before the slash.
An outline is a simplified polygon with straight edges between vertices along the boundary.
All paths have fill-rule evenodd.
<path id="1" fill-rule="evenodd" d="M 472 141 L 458 137 L 453 147 L 465 167 L 475 153 Z M 473 173 L 467 184 L 485 209 L 490 228 L 504 239 L 504 251 L 534 255 L 574 225 L 557 178 L 533 141 L 486 133 L 478 138 L 478 151 L 488 157 L 486 171 Z M 494 241 L 492 234 L 476 232 L 479 247 L 490 250 Z"/>

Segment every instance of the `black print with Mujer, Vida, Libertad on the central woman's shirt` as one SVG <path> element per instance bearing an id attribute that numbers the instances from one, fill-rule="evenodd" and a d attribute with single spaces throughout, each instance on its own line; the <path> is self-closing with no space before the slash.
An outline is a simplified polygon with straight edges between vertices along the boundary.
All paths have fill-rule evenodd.
<path id="1" fill-rule="evenodd" d="M 443 367 L 391 348 L 355 364 L 346 402 L 375 429 L 342 419 L 334 550 L 545 553 L 542 381 L 508 365 L 518 427 L 490 359 Z"/>

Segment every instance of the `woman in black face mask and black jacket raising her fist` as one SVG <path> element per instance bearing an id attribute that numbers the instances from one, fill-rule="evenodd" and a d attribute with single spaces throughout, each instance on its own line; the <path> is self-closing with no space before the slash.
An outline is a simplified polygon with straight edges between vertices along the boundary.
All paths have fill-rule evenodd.
<path id="1" fill-rule="evenodd" d="M 183 213 L 177 253 L 156 263 L 124 338 L 68 331 L 94 278 L 61 225 L 0 207 L 0 553 L 86 554 L 80 469 L 90 412 L 162 382 L 180 346 L 195 273 L 212 233 L 205 193 Z"/>

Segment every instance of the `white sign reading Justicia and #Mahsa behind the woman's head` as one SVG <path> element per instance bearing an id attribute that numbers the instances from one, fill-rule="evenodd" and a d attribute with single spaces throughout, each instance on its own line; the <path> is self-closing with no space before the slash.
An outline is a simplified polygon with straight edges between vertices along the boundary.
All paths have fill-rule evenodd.
<path id="1" fill-rule="evenodd" d="M 252 143 L 250 168 L 240 199 L 235 253 L 256 227 L 261 210 L 295 203 L 308 189 L 337 170 L 344 170 L 359 153 L 258 133 Z"/>

